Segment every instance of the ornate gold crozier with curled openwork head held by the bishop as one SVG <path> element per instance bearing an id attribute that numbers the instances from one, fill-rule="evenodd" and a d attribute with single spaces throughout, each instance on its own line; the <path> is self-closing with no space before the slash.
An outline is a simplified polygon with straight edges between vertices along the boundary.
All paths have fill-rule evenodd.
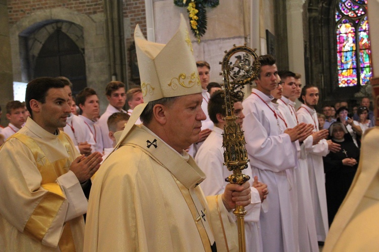
<path id="1" fill-rule="evenodd" d="M 229 171 L 233 171 L 231 175 L 225 178 L 225 181 L 233 184 L 243 184 L 250 179 L 248 175 L 242 173 L 242 170 L 248 167 L 247 163 L 250 160 L 245 148 L 244 132 L 241 130 L 240 124 L 235 123 L 235 120 L 239 117 L 233 114 L 233 104 L 239 100 L 238 98 L 243 98 L 244 92 L 241 89 L 244 85 L 250 84 L 257 78 L 260 64 L 255 50 L 246 46 L 233 45 L 233 48 L 225 51 L 225 53 L 222 62 L 220 62 L 222 65 L 226 109 L 226 117 L 223 118 L 226 123 L 222 134 L 222 147 L 224 148 L 224 165 Z M 237 54 L 234 56 L 235 61 L 231 62 L 230 58 L 234 54 Z M 241 252 L 246 251 L 244 223 L 246 213 L 243 206 L 236 206 L 233 211 L 238 223 L 238 239 Z"/>

